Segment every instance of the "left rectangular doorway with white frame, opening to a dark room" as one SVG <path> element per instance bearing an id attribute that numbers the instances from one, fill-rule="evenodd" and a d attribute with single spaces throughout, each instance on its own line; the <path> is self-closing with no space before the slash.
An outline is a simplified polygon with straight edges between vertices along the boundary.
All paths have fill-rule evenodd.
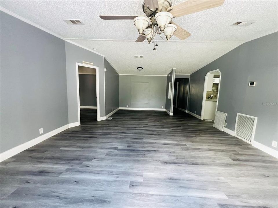
<path id="1" fill-rule="evenodd" d="M 76 79 L 79 125 L 81 110 L 88 118 L 99 120 L 98 67 L 76 63 Z"/>

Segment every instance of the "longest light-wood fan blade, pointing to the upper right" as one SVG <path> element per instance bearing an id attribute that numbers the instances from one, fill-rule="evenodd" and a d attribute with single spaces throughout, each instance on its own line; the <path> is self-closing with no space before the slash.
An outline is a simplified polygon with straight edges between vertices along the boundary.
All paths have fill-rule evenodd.
<path id="1" fill-rule="evenodd" d="M 224 0 L 188 0 L 178 5 L 171 6 L 167 9 L 175 17 L 200 12 L 203 10 L 211 9 L 221 6 Z"/>

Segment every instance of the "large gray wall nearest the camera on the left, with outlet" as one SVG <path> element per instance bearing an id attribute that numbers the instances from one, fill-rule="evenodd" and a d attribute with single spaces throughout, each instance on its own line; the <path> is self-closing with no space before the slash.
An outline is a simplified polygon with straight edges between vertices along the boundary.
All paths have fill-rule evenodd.
<path id="1" fill-rule="evenodd" d="M 0 12 L 3 153 L 68 124 L 65 42 Z"/>

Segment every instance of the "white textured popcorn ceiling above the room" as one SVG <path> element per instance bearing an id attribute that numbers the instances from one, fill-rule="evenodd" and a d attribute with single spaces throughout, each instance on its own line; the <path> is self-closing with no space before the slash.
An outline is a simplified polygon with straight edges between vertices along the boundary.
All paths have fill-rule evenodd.
<path id="1" fill-rule="evenodd" d="M 277 31 L 277 1 L 268 0 L 226 0 L 218 8 L 175 18 L 175 23 L 191 36 L 184 41 L 174 37 L 170 42 L 158 42 L 156 51 L 146 41 L 134 42 L 138 32 L 132 20 L 99 18 L 99 15 L 144 15 L 142 2 L 1 1 L 1 7 L 64 38 L 96 48 L 120 74 L 165 75 L 172 67 L 177 68 L 176 73 L 192 73 L 243 42 Z M 172 2 L 176 5 L 183 1 Z M 62 19 L 80 19 L 84 25 L 68 25 Z M 248 20 L 257 22 L 248 27 L 230 26 Z M 144 69 L 139 72 L 138 66 Z"/>

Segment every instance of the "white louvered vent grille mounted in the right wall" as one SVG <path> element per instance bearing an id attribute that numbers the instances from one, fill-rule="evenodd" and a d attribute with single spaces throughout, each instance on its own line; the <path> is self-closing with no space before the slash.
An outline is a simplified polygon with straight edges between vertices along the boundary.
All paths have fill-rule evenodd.
<path id="1" fill-rule="evenodd" d="M 245 142 L 251 143 L 255 135 L 257 117 L 237 113 L 235 123 L 235 136 Z"/>

